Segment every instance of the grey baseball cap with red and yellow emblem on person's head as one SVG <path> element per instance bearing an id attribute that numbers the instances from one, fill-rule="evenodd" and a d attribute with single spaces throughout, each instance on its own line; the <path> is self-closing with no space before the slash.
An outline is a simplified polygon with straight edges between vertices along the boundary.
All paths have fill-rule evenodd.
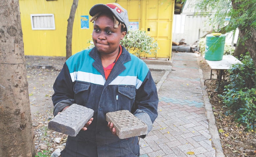
<path id="1" fill-rule="evenodd" d="M 126 31 L 128 31 L 129 27 L 129 19 L 127 10 L 121 7 L 118 3 L 108 3 L 108 4 L 96 4 L 91 7 L 89 14 L 94 16 L 98 12 L 104 12 L 106 10 L 110 10 L 115 17 L 126 26 Z"/>

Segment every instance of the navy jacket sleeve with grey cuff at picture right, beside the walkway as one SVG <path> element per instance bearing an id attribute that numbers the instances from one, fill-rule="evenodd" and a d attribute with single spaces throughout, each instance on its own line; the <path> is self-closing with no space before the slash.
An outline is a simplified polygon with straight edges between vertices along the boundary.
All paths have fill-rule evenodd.
<path id="1" fill-rule="evenodd" d="M 148 127 L 148 132 L 152 130 L 153 123 L 157 118 L 157 107 L 158 107 L 158 95 L 155 82 L 151 76 L 150 71 L 141 87 L 136 92 L 136 106 L 138 109 L 134 115 L 144 122 Z M 146 135 L 142 135 L 141 138 L 145 138 Z"/>

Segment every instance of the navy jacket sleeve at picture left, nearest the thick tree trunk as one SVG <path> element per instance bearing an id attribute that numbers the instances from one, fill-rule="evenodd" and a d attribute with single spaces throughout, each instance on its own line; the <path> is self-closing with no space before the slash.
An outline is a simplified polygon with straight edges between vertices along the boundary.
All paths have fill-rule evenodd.
<path id="1" fill-rule="evenodd" d="M 73 82 L 66 63 L 64 63 L 60 74 L 53 84 L 53 90 L 52 102 L 54 105 L 53 115 L 55 116 L 58 112 L 61 112 L 64 107 L 75 103 Z"/>

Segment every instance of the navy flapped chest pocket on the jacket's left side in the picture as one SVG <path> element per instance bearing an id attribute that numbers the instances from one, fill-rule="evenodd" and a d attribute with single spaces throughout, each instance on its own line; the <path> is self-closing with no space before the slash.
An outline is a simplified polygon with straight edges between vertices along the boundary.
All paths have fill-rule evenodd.
<path id="1" fill-rule="evenodd" d="M 83 105 L 87 102 L 89 95 L 90 83 L 76 81 L 74 85 L 75 100 L 77 104 Z"/>

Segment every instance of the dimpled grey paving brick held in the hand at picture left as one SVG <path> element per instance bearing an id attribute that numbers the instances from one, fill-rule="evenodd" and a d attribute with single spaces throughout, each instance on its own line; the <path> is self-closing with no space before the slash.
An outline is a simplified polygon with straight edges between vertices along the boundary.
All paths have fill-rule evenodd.
<path id="1" fill-rule="evenodd" d="M 48 129 L 76 136 L 93 116 L 94 111 L 87 107 L 72 104 L 69 108 L 57 114 L 48 124 Z"/>

